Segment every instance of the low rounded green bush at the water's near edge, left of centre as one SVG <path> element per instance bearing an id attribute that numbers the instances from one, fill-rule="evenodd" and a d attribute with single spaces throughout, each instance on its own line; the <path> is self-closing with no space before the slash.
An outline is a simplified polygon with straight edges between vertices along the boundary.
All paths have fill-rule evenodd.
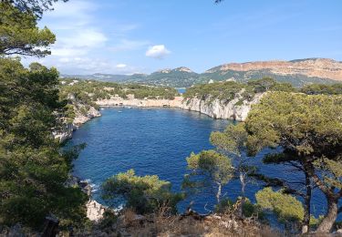
<path id="1" fill-rule="evenodd" d="M 156 175 L 137 176 L 134 170 L 119 173 L 102 184 L 106 201 L 126 201 L 126 207 L 140 214 L 158 211 L 162 206 L 176 212 L 176 205 L 182 200 L 180 193 L 171 192 L 171 183 L 160 180 Z"/>

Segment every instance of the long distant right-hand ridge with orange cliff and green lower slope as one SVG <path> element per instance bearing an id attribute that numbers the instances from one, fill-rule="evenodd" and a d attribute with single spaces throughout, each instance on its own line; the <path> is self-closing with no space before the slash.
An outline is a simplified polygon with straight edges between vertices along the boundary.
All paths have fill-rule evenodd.
<path id="1" fill-rule="evenodd" d="M 296 87 L 308 83 L 342 82 L 342 63 L 326 58 L 306 58 L 292 61 L 260 61 L 232 63 L 212 67 L 202 75 L 213 80 L 246 81 L 260 77 L 274 77 Z"/>

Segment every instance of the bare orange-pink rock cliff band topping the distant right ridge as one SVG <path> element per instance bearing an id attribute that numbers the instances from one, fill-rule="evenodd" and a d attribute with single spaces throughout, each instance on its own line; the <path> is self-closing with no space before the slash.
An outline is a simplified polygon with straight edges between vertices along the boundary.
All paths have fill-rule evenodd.
<path id="1" fill-rule="evenodd" d="M 249 63 L 231 63 L 213 67 L 207 73 L 233 71 L 257 71 L 268 69 L 277 75 L 304 75 L 342 81 L 342 63 L 327 58 L 308 58 L 292 61 L 260 61 Z"/>

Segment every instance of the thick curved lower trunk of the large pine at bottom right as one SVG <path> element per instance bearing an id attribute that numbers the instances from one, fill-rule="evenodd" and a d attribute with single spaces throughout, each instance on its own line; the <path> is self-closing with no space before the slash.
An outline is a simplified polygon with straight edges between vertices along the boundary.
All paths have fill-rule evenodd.
<path id="1" fill-rule="evenodd" d="M 326 195 L 326 201 L 327 201 L 326 216 L 323 219 L 323 221 L 318 225 L 317 232 L 324 232 L 324 233 L 331 232 L 334 222 L 336 222 L 336 219 L 337 219 L 338 199 Z"/>

